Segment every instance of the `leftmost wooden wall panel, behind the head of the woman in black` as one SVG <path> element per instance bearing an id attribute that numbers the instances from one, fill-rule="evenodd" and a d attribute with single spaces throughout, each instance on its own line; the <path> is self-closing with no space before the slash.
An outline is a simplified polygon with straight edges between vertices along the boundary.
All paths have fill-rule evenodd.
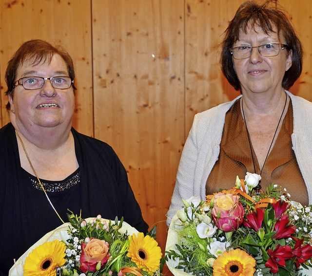
<path id="1" fill-rule="evenodd" d="M 8 121 L 4 106 L 6 64 L 22 42 L 44 39 L 61 44 L 76 70 L 74 127 L 93 136 L 92 51 L 90 0 L 0 0 L 1 124 Z"/>

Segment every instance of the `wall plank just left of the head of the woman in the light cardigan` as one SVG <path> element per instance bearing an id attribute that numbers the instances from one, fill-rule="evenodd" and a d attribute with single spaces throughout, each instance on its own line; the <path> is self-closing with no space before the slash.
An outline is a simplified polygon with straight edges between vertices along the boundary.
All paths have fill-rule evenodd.
<path id="1" fill-rule="evenodd" d="M 218 44 L 242 0 L 185 1 L 185 135 L 194 115 L 240 94 L 220 69 Z"/>

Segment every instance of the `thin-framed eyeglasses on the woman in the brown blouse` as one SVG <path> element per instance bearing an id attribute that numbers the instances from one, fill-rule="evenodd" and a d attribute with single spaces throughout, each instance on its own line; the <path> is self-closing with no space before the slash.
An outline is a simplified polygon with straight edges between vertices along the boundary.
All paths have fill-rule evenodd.
<path id="1" fill-rule="evenodd" d="M 253 48 L 258 48 L 258 51 L 262 56 L 275 56 L 279 53 L 279 45 L 281 45 L 282 50 L 288 46 L 279 42 L 265 43 L 259 46 L 238 45 L 231 47 L 230 53 L 235 59 L 243 59 L 250 57 Z"/>

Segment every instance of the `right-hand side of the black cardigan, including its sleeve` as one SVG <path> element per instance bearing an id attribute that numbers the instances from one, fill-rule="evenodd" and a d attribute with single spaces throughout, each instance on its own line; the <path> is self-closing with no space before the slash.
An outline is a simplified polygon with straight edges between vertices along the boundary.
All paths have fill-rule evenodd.
<path id="1" fill-rule="evenodd" d="M 82 213 L 91 217 L 124 218 L 139 232 L 148 225 L 128 181 L 125 167 L 107 143 L 78 133 L 73 129 L 75 150 L 82 183 Z M 88 213 L 87 210 L 90 212 Z"/>

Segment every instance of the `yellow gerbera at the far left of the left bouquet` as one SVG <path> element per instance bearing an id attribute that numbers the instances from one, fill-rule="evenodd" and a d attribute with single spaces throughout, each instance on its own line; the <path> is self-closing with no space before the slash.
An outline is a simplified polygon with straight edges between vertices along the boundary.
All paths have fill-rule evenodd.
<path id="1" fill-rule="evenodd" d="M 24 276 L 56 276 L 56 268 L 65 264 L 66 246 L 59 240 L 36 247 L 25 259 Z"/>

